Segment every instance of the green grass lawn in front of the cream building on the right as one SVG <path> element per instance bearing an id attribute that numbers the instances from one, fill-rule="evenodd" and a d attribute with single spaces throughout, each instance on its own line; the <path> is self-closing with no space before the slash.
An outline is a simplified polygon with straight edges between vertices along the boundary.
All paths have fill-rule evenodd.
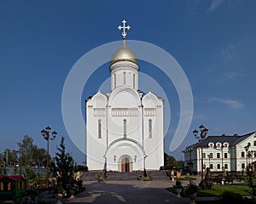
<path id="1" fill-rule="evenodd" d="M 174 190 L 173 188 L 168 188 L 166 190 L 170 190 L 172 191 L 172 193 L 176 193 L 176 190 Z M 250 188 L 247 184 L 218 184 L 213 185 L 212 190 L 199 190 L 199 192 L 197 193 L 197 197 L 220 196 L 224 193 L 224 191 L 230 191 L 240 195 L 250 195 L 250 192 L 252 192 L 252 188 Z M 181 195 L 186 196 L 184 195 L 184 193 L 182 193 Z"/>

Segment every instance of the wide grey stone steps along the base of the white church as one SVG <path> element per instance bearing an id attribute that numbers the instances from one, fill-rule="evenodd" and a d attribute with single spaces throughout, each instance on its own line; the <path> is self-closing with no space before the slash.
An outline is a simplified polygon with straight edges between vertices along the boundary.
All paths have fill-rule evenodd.
<path id="1" fill-rule="evenodd" d="M 169 180 L 166 176 L 166 172 L 159 171 L 147 171 L 148 177 L 152 176 L 153 180 Z M 82 176 L 83 181 L 97 181 L 98 176 L 102 176 L 103 171 L 90 171 L 85 172 Z M 119 173 L 119 172 L 108 172 L 108 180 L 137 180 L 140 176 L 143 176 L 142 172 L 131 172 L 131 173 Z"/>

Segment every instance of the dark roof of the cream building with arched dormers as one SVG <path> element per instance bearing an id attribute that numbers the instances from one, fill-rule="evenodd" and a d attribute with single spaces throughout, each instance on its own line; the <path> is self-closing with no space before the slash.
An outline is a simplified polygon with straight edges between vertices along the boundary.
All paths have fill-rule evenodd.
<path id="1" fill-rule="evenodd" d="M 253 132 L 256 133 L 256 132 Z M 251 136 L 253 133 L 247 133 L 244 135 L 238 135 L 238 134 L 234 134 L 234 135 L 221 135 L 221 136 L 208 136 L 206 139 L 203 139 L 202 142 L 202 147 L 208 147 L 209 143 L 221 143 L 224 144 L 224 142 L 229 143 L 230 146 L 235 146 L 236 144 L 241 143 L 242 140 L 247 139 L 249 136 Z M 192 145 L 189 145 L 186 147 L 185 150 L 189 150 L 190 148 L 195 148 L 195 147 L 199 147 L 200 143 L 195 143 Z"/>

